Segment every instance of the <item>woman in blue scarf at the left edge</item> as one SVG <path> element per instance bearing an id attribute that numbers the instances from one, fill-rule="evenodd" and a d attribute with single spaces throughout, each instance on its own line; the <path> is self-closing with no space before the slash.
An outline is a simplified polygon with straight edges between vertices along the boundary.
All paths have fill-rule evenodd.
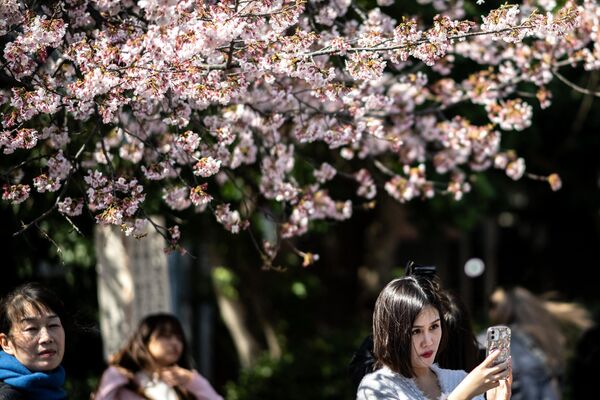
<path id="1" fill-rule="evenodd" d="M 64 308 L 38 283 L 11 291 L 0 304 L 0 399 L 61 400 L 65 370 Z"/>

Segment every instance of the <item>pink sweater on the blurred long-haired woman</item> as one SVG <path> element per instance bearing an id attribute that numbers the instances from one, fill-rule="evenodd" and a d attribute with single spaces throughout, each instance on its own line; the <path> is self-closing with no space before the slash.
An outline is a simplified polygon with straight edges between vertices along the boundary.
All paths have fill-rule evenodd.
<path id="1" fill-rule="evenodd" d="M 196 370 L 194 375 L 185 387 L 190 393 L 196 396 L 197 400 L 223 400 L 208 381 Z M 102 374 L 98 391 L 94 400 L 140 400 L 137 393 L 125 388 L 128 379 L 115 367 L 109 367 Z"/>

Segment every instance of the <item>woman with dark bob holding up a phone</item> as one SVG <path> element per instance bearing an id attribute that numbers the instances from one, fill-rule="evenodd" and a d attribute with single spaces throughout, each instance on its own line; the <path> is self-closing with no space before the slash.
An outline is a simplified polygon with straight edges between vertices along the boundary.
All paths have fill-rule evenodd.
<path id="1" fill-rule="evenodd" d="M 361 381 L 357 400 L 508 400 L 510 360 L 490 354 L 469 374 L 434 363 L 447 338 L 440 293 L 428 279 L 395 279 L 381 291 L 373 313 L 375 372 Z"/>

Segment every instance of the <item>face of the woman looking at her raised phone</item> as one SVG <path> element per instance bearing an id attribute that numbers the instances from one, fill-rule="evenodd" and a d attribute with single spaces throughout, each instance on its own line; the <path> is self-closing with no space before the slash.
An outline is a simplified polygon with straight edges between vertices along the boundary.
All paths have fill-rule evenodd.
<path id="1" fill-rule="evenodd" d="M 440 314 L 434 307 L 427 306 L 417 315 L 412 326 L 411 364 L 416 373 L 431 367 L 441 339 Z"/>

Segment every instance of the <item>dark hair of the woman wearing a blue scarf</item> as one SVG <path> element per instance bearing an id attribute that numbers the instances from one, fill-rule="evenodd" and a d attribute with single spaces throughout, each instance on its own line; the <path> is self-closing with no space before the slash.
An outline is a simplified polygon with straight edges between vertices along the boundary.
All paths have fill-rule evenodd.
<path id="1" fill-rule="evenodd" d="M 20 285 L 8 293 L 0 303 L 0 333 L 10 334 L 15 322 L 26 316 L 28 306 L 37 312 L 52 311 L 64 323 L 64 305 L 58 296 L 37 282 Z"/>

